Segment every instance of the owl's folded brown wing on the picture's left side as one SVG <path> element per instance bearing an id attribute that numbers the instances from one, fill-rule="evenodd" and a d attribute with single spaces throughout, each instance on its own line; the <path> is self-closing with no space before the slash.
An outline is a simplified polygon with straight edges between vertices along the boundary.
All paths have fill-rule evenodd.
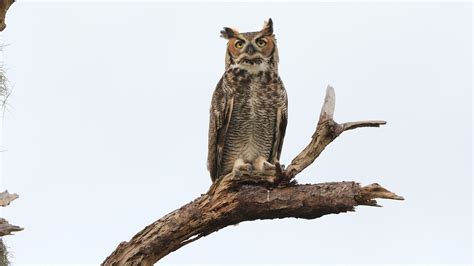
<path id="1" fill-rule="evenodd" d="M 234 99 L 222 88 L 222 79 L 212 95 L 209 119 L 209 143 L 207 155 L 207 169 L 212 181 L 219 178 L 222 170 L 222 155 L 224 142 L 229 127 Z"/>

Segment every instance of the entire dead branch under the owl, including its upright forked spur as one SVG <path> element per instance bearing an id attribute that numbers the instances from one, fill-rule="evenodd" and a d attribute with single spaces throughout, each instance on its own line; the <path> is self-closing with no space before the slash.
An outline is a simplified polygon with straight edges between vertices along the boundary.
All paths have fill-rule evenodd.
<path id="1" fill-rule="evenodd" d="M 378 184 L 361 187 L 356 182 L 313 185 L 289 182 L 342 132 L 385 124 L 384 121 L 338 124 L 333 120 L 334 109 L 334 89 L 328 87 L 311 142 L 286 169 L 281 167 L 260 175 L 228 174 L 214 182 L 206 194 L 148 225 L 130 241 L 120 243 L 103 265 L 153 265 L 188 243 L 244 221 L 314 219 L 354 211 L 358 205 L 380 206 L 377 198 L 403 200 Z"/>

